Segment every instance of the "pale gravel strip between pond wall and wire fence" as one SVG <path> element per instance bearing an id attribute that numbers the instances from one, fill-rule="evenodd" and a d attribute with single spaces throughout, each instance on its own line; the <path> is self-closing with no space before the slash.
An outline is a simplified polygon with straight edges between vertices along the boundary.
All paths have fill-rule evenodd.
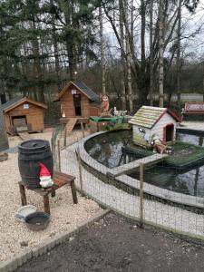
<path id="1" fill-rule="evenodd" d="M 80 187 L 78 163 L 75 156 L 76 144 L 62 151 L 64 172 L 75 173 L 76 185 Z M 139 198 L 105 184 L 83 169 L 83 189 L 94 199 L 106 206 L 131 217 L 139 217 Z M 204 236 L 204 216 L 185 209 L 144 199 L 144 219 L 166 228 L 192 235 Z"/>

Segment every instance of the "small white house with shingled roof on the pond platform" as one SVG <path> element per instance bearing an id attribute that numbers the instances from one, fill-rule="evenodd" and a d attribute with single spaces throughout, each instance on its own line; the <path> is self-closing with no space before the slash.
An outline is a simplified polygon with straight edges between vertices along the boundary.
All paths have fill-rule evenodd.
<path id="1" fill-rule="evenodd" d="M 133 142 L 149 148 L 154 139 L 164 144 L 174 141 L 178 122 L 180 118 L 167 108 L 142 106 L 129 121 L 133 126 Z"/>

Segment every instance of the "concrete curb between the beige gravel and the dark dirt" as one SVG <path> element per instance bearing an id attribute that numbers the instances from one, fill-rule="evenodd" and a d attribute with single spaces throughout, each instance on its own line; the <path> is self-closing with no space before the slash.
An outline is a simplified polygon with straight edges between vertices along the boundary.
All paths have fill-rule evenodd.
<path id="1" fill-rule="evenodd" d="M 26 261 L 31 259 L 32 257 L 39 257 L 43 255 L 46 251 L 54 248 L 57 245 L 62 244 L 65 240 L 72 237 L 74 234 L 80 232 L 83 228 L 92 225 L 95 221 L 102 219 L 108 213 L 110 213 L 110 209 L 101 210 L 92 218 L 87 219 L 80 223 L 76 228 L 73 230 L 69 230 L 63 232 L 59 235 L 56 235 L 54 238 L 50 238 L 49 240 L 45 241 L 43 244 L 31 249 L 24 250 L 21 254 L 17 255 L 16 257 L 9 259 L 7 261 L 0 263 L 0 272 L 12 272 L 17 267 L 21 267 Z"/>

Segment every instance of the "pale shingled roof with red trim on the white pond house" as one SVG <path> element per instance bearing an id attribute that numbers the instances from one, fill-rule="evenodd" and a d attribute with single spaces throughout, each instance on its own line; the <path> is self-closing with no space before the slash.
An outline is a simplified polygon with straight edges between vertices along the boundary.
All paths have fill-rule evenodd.
<path id="1" fill-rule="evenodd" d="M 176 121 L 180 121 L 180 118 L 170 112 L 167 108 L 142 106 L 131 118 L 129 123 L 151 129 L 166 112 L 168 112 Z"/>

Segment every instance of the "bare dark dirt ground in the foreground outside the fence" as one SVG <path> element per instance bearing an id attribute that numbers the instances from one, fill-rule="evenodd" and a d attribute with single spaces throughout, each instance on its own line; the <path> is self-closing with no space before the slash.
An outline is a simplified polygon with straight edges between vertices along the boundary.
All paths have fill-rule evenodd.
<path id="1" fill-rule="evenodd" d="M 114 214 L 15 272 L 204 271 L 204 248 Z"/>

